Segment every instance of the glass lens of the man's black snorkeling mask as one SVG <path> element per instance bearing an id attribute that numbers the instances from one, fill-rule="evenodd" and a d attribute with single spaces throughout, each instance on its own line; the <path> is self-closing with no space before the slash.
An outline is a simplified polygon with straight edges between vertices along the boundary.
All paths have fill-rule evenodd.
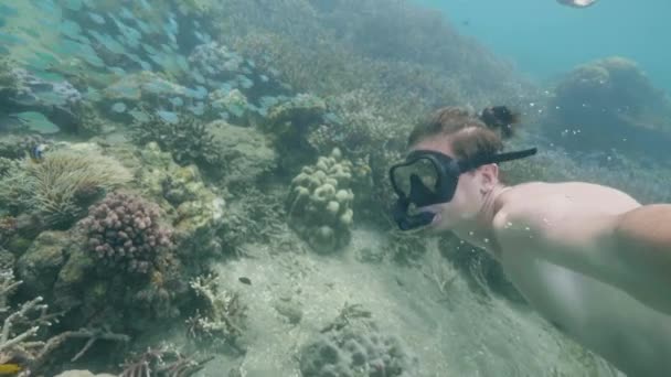
<path id="1" fill-rule="evenodd" d="M 423 195 L 437 194 L 438 170 L 428 159 L 417 159 L 396 166 L 392 172 L 392 180 L 406 197 L 411 197 L 411 192 Z"/>

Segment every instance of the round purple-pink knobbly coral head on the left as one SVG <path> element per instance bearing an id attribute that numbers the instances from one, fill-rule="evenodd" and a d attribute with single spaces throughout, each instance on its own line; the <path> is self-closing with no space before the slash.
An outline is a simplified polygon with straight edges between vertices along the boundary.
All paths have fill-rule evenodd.
<path id="1" fill-rule="evenodd" d="M 106 265 L 130 272 L 152 271 L 173 247 L 172 231 L 159 225 L 158 206 L 139 196 L 113 193 L 82 220 L 88 248 Z"/>

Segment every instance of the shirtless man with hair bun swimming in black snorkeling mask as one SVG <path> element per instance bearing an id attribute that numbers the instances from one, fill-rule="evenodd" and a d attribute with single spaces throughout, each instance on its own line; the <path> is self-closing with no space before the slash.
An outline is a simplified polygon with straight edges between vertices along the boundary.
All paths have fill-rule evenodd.
<path id="1" fill-rule="evenodd" d="M 402 229 L 452 230 L 491 254 L 530 304 L 629 376 L 671 374 L 671 205 L 611 187 L 507 186 L 499 162 L 515 117 L 447 107 L 412 131 L 390 170 Z"/>

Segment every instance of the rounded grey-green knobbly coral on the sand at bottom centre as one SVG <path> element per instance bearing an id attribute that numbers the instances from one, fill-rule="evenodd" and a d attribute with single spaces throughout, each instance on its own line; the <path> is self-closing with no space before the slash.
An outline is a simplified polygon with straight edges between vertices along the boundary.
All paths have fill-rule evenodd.
<path id="1" fill-rule="evenodd" d="M 417 359 L 400 338 L 382 333 L 370 317 L 359 305 L 345 303 L 338 319 L 302 347 L 302 376 L 415 376 Z"/>

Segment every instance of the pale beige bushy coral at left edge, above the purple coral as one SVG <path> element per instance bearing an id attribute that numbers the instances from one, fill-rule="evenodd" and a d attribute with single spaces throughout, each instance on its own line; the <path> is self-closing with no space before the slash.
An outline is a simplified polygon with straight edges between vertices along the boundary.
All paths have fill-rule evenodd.
<path id="1" fill-rule="evenodd" d="M 14 214 L 39 217 L 45 227 L 65 228 L 100 194 L 128 183 L 130 172 L 88 144 L 60 148 L 35 163 L 24 159 L 0 180 L 0 202 Z"/>

